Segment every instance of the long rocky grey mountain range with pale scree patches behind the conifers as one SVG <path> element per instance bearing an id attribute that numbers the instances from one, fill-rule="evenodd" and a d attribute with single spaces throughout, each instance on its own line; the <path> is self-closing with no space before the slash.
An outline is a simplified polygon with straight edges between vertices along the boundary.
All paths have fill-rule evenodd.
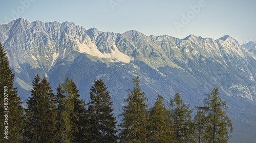
<path id="1" fill-rule="evenodd" d="M 23 100 L 30 96 L 36 74 L 47 76 L 54 88 L 69 76 L 86 101 L 93 80 L 102 79 L 115 115 L 122 111 L 136 75 L 150 105 L 157 94 L 167 101 L 177 92 L 190 107 L 202 105 L 206 94 L 218 87 L 233 122 L 231 141 L 256 140 L 256 56 L 230 36 L 148 37 L 137 31 L 117 34 L 24 18 L 0 25 L 0 33 Z"/>

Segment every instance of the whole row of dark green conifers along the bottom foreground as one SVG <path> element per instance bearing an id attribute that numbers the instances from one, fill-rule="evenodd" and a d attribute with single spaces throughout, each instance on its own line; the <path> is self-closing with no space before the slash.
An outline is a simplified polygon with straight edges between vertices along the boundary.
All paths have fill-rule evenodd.
<path id="1" fill-rule="evenodd" d="M 195 107 L 193 117 L 194 109 L 183 103 L 179 93 L 167 106 L 156 95 L 154 106 L 148 107 L 137 76 L 131 83 L 134 88 L 127 90 L 118 124 L 110 92 L 100 79 L 84 102 L 69 77 L 53 89 L 46 77 L 37 75 L 24 108 L 13 87 L 14 76 L 0 43 L 0 142 L 228 142 L 232 133 L 218 88 L 207 94 L 204 106 Z"/>

